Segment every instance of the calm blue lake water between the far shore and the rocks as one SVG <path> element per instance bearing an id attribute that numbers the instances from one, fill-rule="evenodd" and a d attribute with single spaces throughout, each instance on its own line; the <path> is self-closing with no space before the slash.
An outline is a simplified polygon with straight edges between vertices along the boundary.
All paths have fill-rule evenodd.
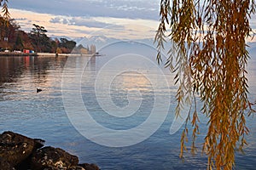
<path id="1" fill-rule="evenodd" d="M 178 155 L 182 129 L 169 133 L 176 106 L 171 73 L 162 68 L 158 72 L 150 50 L 135 54 L 118 48 L 119 52 L 103 48 L 101 53 L 106 55 L 95 58 L 0 57 L 0 132 L 14 131 L 45 139 L 45 145 L 60 147 L 79 156 L 80 162 L 96 163 L 101 169 L 206 169 L 207 157 L 201 155 L 201 143 L 207 120 L 201 116 L 198 153 L 187 153 L 181 160 Z M 248 63 L 250 98 L 254 101 L 255 58 Z M 37 88 L 43 91 L 37 93 Z M 77 88 L 80 98 L 73 96 Z M 168 107 L 166 99 L 170 102 Z M 79 107 L 80 103 L 85 110 Z M 82 116 L 76 115 L 79 111 Z M 108 138 L 106 133 L 106 137 L 101 129 L 93 127 L 98 124 L 83 119 L 83 111 L 90 113 L 103 130 L 121 131 L 124 135 L 113 133 Z M 144 131 L 129 133 L 148 122 L 152 111 L 160 118 L 145 123 L 148 127 Z M 159 128 L 154 126 L 157 123 Z M 253 116 L 247 118 L 251 132 L 245 154 L 236 154 L 236 169 L 256 168 L 255 124 Z M 148 135 L 150 130 L 152 135 Z M 115 147 L 118 144 L 120 147 Z"/>

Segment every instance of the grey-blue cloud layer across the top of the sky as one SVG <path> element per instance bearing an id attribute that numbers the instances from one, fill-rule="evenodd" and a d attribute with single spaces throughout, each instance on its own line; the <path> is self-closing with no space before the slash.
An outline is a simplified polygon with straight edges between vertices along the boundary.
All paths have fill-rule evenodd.
<path id="1" fill-rule="evenodd" d="M 10 8 L 55 15 L 114 17 L 158 20 L 159 2 L 155 0 L 15 0 Z"/>

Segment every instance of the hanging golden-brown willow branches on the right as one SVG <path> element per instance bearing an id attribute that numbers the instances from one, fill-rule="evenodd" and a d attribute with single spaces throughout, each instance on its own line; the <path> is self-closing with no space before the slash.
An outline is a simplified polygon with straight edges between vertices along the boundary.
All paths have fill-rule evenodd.
<path id="1" fill-rule="evenodd" d="M 208 118 L 208 131 L 202 150 L 208 156 L 208 169 L 232 169 L 235 150 L 247 144 L 245 117 L 253 111 L 247 94 L 246 39 L 252 29 L 253 0 L 161 0 L 160 26 L 155 36 L 160 52 L 166 38 L 175 42 L 178 53 L 170 50 L 166 66 L 176 72 L 178 116 L 184 103 L 203 102 L 201 112 Z M 192 112 L 191 112 L 192 113 Z M 196 110 L 189 113 L 192 151 L 199 133 Z M 190 118 L 191 117 L 191 118 Z M 187 126 L 181 137 L 181 153 L 186 150 Z"/>

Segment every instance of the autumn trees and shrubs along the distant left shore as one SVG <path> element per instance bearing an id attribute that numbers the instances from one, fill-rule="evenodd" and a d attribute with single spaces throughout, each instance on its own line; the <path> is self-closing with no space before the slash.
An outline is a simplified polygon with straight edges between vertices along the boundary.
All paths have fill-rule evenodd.
<path id="1" fill-rule="evenodd" d="M 29 49 L 38 53 L 68 54 L 76 47 L 76 42 L 67 38 L 52 39 L 46 32 L 44 26 L 36 24 L 33 24 L 32 31 L 22 31 L 14 19 L 5 20 L 0 17 L 0 48 L 11 51 Z"/>

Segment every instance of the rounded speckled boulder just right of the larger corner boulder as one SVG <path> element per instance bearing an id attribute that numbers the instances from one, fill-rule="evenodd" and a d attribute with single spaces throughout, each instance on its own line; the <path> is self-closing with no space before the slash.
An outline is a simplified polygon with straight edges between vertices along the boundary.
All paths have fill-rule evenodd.
<path id="1" fill-rule="evenodd" d="M 32 169 L 72 169 L 79 163 L 78 156 L 73 156 L 60 148 L 51 146 L 44 147 L 37 150 L 32 155 Z"/>

